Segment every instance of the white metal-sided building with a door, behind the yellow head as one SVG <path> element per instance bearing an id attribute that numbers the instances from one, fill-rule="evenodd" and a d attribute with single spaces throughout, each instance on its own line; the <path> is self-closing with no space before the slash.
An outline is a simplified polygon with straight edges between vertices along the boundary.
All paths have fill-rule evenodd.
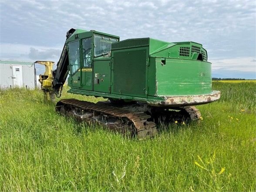
<path id="1" fill-rule="evenodd" d="M 0 60 L 0 88 L 35 88 L 34 63 Z"/>

